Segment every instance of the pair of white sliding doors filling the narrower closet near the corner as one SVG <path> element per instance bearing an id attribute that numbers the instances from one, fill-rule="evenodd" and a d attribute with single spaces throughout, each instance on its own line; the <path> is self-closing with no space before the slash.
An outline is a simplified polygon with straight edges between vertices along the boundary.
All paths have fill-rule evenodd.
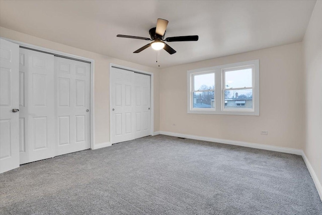
<path id="1" fill-rule="evenodd" d="M 112 67 L 110 84 L 111 143 L 150 135 L 150 76 Z"/>

